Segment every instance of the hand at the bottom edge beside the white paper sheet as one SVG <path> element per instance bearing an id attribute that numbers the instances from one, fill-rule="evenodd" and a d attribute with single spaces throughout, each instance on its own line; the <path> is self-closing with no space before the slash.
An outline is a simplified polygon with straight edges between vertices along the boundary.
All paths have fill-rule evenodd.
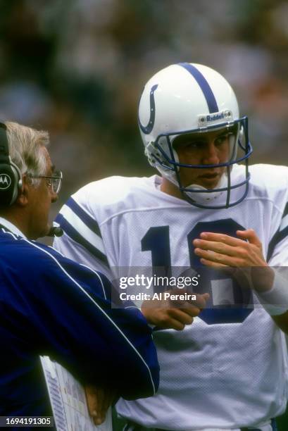
<path id="1" fill-rule="evenodd" d="M 84 387 L 89 415 L 95 425 L 104 423 L 108 408 L 115 400 L 116 393 L 112 389 L 103 389 L 93 385 Z"/>

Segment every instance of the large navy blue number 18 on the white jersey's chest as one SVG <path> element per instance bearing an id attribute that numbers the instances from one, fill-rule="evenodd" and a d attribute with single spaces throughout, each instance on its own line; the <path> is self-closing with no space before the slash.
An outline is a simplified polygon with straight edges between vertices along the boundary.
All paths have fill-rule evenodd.
<path id="1" fill-rule="evenodd" d="M 194 254 L 193 240 L 199 238 L 201 232 L 223 233 L 236 237 L 237 230 L 244 230 L 244 227 L 228 218 L 197 223 L 187 235 L 190 265 L 199 275 L 199 285 L 193 287 L 193 292 L 210 294 L 206 308 L 199 315 L 208 325 L 242 323 L 253 311 L 252 294 L 249 287 L 240 286 L 227 273 L 202 265 Z M 142 251 L 151 251 L 154 272 L 156 273 L 158 268 L 163 268 L 163 273 L 169 275 L 171 268 L 169 226 L 150 227 L 141 244 Z"/>

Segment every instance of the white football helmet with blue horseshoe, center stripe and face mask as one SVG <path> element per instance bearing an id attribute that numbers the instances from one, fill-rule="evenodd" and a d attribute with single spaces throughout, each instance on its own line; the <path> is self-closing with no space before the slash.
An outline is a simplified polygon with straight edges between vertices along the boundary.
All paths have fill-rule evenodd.
<path id="1" fill-rule="evenodd" d="M 239 117 L 233 89 L 220 73 L 195 63 L 178 63 L 160 70 L 144 87 L 138 123 L 149 163 L 177 185 L 190 204 L 220 209 L 237 205 L 245 198 L 249 187 L 248 158 L 252 152 L 248 118 Z M 179 162 L 173 148 L 176 138 L 222 129 L 227 130 L 230 145 L 230 156 L 225 163 L 188 165 Z M 245 176 L 234 184 L 232 166 L 241 161 L 246 164 Z M 224 167 L 225 172 L 213 189 L 182 185 L 180 168 L 211 170 L 219 167 Z M 239 193 L 235 192 L 237 189 Z"/>

